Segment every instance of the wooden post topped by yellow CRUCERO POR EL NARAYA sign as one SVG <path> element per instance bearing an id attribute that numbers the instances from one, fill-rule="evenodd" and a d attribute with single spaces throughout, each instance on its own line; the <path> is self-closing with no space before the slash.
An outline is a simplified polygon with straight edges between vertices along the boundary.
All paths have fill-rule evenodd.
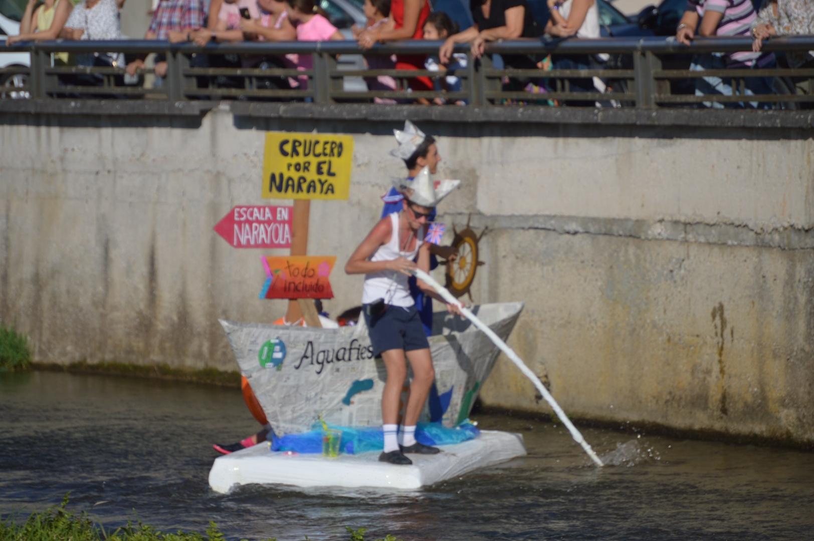
<path id="1" fill-rule="evenodd" d="M 291 255 L 307 255 L 311 199 L 347 200 L 350 194 L 353 137 L 320 133 L 266 133 L 264 199 L 294 199 Z M 310 299 L 291 299 L 286 321 L 305 318 L 319 327 Z"/>

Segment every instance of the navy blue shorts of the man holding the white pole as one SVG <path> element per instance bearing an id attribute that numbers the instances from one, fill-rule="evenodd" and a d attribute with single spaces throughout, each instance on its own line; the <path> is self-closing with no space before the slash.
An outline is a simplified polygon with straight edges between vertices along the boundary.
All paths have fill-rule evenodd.
<path id="1" fill-rule="evenodd" d="M 415 305 L 404 308 L 387 304 L 387 310 L 380 316 L 370 314 L 370 306 L 363 304 L 362 313 L 365 314 L 374 357 L 391 349 L 414 351 L 430 347 Z"/>

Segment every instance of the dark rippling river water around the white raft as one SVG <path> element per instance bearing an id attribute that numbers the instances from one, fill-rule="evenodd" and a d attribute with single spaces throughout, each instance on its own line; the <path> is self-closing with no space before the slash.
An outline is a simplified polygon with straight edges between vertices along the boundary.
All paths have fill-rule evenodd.
<path id="1" fill-rule="evenodd" d="M 230 539 L 814 539 L 814 453 L 474 416 L 528 456 L 422 491 L 209 490 L 217 453 L 257 428 L 239 390 L 67 373 L 0 374 L 0 514 L 71 507 L 106 526 Z"/>

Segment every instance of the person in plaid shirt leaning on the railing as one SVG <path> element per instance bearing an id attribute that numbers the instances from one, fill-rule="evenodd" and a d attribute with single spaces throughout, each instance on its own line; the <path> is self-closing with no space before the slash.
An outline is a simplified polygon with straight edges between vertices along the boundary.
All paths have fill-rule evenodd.
<path id="1" fill-rule="evenodd" d="M 167 40 L 173 43 L 190 41 L 191 33 L 204 27 L 206 20 L 206 7 L 204 0 L 160 0 L 153 12 L 150 27 L 144 34 L 146 40 Z M 135 75 L 137 69 L 144 68 L 144 59 L 138 59 L 127 64 L 127 73 Z M 193 55 L 190 66 L 193 68 L 207 68 L 209 65 L 206 55 Z M 155 55 L 155 86 L 160 87 L 164 76 L 167 75 L 167 56 Z"/>

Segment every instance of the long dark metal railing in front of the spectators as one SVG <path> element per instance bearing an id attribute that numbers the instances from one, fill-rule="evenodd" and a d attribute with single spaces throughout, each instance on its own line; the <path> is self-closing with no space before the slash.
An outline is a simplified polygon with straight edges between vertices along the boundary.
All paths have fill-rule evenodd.
<path id="1" fill-rule="evenodd" d="M 439 41 L 402 41 L 365 51 L 365 55 L 436 55 Z M 491 43 L 484 58 L 473 61 L 468 46 L 457 46 L 466 53 L 467 68 L 455 72 L 361 69 L 361 63 L 348 65 L 341 59 L 359 59 L 355 41 L 242 42 L 234 44 L 170 44 L 167 41 L 47 41 L 0 46 L 2 52 L 28 52 L 30 65 L 0 68 L 0 99 L 76 99 L 144 98 L 173 102 L 189 99 L 238 98 L 247 100 L 305 101 L 313 103 L 370 103 L 374 98 L 389 98 L 396 103 L 413 103 L 418 98 L 446 98 L 477 106 L 589 105 L 604 107 L 698 107 L 701 103 L 771 103 L 772 107 L 795 109 L 814 103 L 814 68 L 717 69 L 691 71 L 693 55 L 751 50 L 746 38 L 697 38 L 691 46 L 679 44 L 674 37 L 565 39 L 558 41 L 519 40 Z M 764 50 L 805 54 L 814 50 L 814 36 L 781 37 L 764 42 Z M 146 88 L 143 76 L 152 69 L 139 70 L 136 84 L 125 77 L 125 67 L 55 66 L 54 54 L 72 55 L 104 52 L 125 55 L 165 55 L 168 71 L 160 86 Z M 501 66 L 501 59 L 525 55 L 534 62 L 548 55 L 610 55 L 591 69 L 516 69 Z M 199 67 L 195 59 L 222 59 L 311 55 L 313 68 L 241 68 Z M 583 57 L 584 58 L 584 57 Z M 221 66 L 223 63 L 218 63 Z M 532 63 L 533 65 L 533 63 Z M 780 64 L 782 66 L 782 64 Z M 419 76 L 454 75 L 461 79 L 459 92 L 411 91 L 409 79 Z M 88 83 L 88 78 L 92 83 Z M 396 89 L 369 90 L 363 78 L 391 76 Z M 721 77 L 729 81 L 736 95 L 696 95 L 694 81 L 699 77 Z M 772 94 L 744 95 L 750 77 L 768 77 Z M 274 88 L 269 80 L 298 81 L 294 88 Z M 599 81 L 603 91 L 577 92 L 577 80 Z M 10 84 L 10 82 L 12 84 Z M 225 81 L 225 82 L 224 82 Z M 807 81 L 807 93 L 795 92 L 795 86 Z M 130 82 L 131 84 L 127 84 Z"/>

